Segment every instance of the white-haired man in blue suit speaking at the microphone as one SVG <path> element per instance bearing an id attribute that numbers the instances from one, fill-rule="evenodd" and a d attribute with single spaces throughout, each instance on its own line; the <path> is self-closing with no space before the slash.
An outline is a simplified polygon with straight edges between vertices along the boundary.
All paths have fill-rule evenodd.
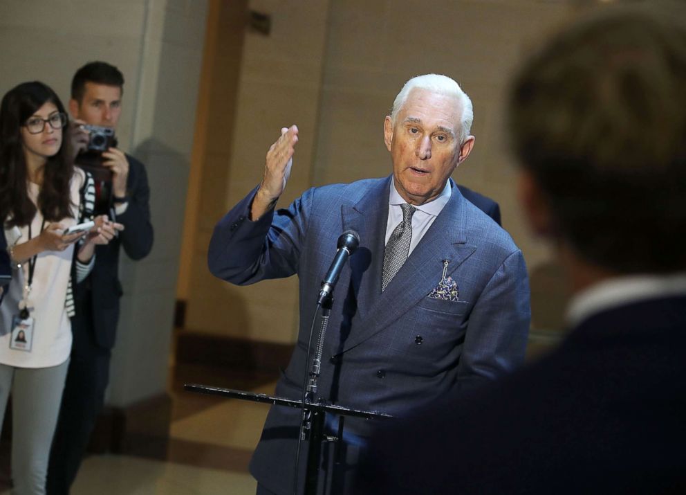
<path id="1" fill-rule="evenodd" d="M 468 400 L 465 392 L 523 361 L 530 308 L 521 251 L 450 179 L 474 146 L 472 118 L 454 80 L 412 78 L 384 120 L 393 174 L 312 188 L 275 210 L 298 141 L 295 125 L 281 129 L 261 183 L 217 224 L 208 255 L 212 273 L 238 285 L 299 277 L 298 342 L 277 395 L 302 396 L 310 317 L 347 230 L 360 246 L 336 287 L 318 400 L 402 416 L 449 391 Z M 250 465 L 258 494 L 293 493 L 299 424 L 297 409 L 272 406 Z M 346 420 L 342 462 L 324 444 L 317 493 L 349 492 L 369 428 Z"/>

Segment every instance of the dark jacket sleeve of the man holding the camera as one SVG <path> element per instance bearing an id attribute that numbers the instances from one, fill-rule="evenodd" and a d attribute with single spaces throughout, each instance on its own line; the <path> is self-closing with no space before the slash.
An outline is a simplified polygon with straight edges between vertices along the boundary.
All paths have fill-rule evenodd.
<path id="1" fill-rule="evenodd" d="M 145 168 L 138 160 L 129 159 L 129 204 L 126 211 L 117 215 L 117 222 L 124 224 L 120 238 L 124 251 L 131 260 L 145 258 L 153 243 L 150 223 L 150 187 Z"/>

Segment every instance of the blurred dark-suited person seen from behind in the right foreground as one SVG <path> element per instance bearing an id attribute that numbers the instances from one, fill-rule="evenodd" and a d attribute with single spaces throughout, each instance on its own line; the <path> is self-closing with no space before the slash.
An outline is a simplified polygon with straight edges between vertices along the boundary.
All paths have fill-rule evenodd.
<path id="1" fill-rule="evenodd" d="M 571 333 L 382 431 L 360 493 L 686 492 L 684 21 L 666 3 L 602 10 L 523 66 L 521 202 L 568 271 Z"/>

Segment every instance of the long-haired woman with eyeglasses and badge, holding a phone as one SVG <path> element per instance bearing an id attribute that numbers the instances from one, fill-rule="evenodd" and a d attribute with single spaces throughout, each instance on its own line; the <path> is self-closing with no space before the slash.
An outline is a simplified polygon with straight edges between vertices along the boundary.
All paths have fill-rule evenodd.
<path id="1" fill-rule="evenodd" d="M 89 230 L 65 233 L 94 196 L 66 150 L 66 124 L 62 102 L 41 82 L 19 84 L 0 104 L 0 219 L 12 262 L 0 305 L 0 427 L 11 392 L 13 494 L 45 493 L 71 352 L 72 285 L 117 228 L 98 217 Z"/>

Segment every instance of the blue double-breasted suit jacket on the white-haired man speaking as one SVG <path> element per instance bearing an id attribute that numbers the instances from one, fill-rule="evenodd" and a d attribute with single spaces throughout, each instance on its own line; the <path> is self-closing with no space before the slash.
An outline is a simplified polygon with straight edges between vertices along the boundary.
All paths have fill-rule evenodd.
<path id="1" fill-rule="evenodd" d="M 301 396 L 319 286 L 338 237 L 349 229 L 359 233 L 360 246 L 335 288 L 319 397 L 402 415 L 523 361 L 530 307 L 521 251 L 452 180 L 445 208 L 381 291 L 390 186 L 387 177 L 313 188 L 256 222 L 249 219 L 253 190 L 217 224 L 208 253 L 215 276 L 239 285 L 299 277 L 299 336 L 277 395 Z M 442 280 L 457 294 L 436 294 Z M 346 420 L 342 471 L 355 464 L 358 440 L 370 426 Z M 274 492 L 292 491 L 298 428 L 299 411 L 272 406 L 251 471 Z M 326 449 L 323 457 L 326 463 Z M 335 484 L 338 491 L 346 486 Z"/>

